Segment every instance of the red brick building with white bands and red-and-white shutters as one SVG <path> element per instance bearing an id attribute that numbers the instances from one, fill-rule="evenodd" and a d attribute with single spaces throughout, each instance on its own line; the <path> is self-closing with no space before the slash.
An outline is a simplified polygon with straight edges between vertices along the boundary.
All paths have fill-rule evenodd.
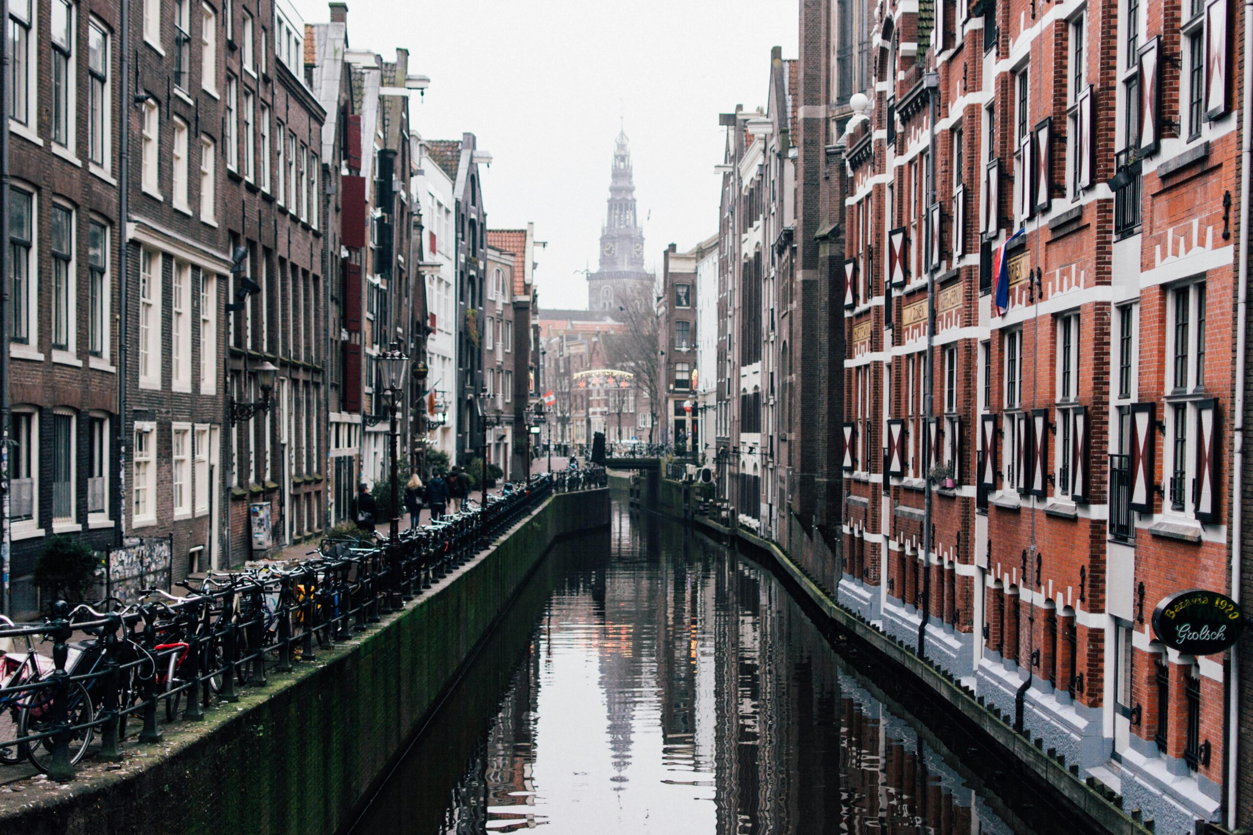
<path id="1" fill-rule="evenodd" d="M 1224 660 L 1149 622 L 1230 583 L 1227 6 L 855 9 L 840 600 L 1157 831 L 1219 820 Z"/>

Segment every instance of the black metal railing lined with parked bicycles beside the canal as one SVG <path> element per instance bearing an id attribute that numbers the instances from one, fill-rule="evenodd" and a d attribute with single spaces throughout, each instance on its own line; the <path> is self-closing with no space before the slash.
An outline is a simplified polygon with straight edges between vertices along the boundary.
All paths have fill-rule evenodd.
<path id="1" fill-rule="evenodd" d="M 162 705 L 165 721 L 203 719 L 214 699 L 238 701 L 238 686 L 264 686 L 268 671 L 313 661 L 400 611 L 554 488 L 604 484 L 600 467 L 541 473 L 490 496 L 486 508 L 405 531 L 395 543 L 380 535 L 328 538 L 304 560 L 178 583 L 188 592 L 182 597 L 149 588 L 129 603 L 109 597 L 71 608 L 56 601 L 41 623 L 0 617 L 0 646 L 26 643 L 24 652 L 0 653 L 0 765 L 30 761 L 70 780 L 98 734 L 105 760 L 119 757 L 137 724 L 139 742 L 157 742 Z M 75 632 L 90 637 L 70 643 Z M 53 641 L 51 656 L 40 655 L 33 638 Z"/>

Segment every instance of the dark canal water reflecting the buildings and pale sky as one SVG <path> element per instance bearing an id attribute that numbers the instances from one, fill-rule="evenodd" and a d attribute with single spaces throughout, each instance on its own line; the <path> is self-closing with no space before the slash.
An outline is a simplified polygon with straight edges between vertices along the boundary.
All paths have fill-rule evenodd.
<path id="1" fill-rule="evenodd" d="M 615 502 L 540 565 L 353 831 L 1081 831 L 865 666 L 768 568 Z"/>

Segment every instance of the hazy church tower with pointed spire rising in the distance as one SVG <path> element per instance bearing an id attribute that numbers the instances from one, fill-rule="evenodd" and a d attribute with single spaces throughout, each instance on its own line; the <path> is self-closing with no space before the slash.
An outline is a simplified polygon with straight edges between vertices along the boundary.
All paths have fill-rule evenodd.
<path id="1" fill-rule="evenodd" d="M 628 299 L 650 300 L 653 277 L 644 272 L 644 230 L 635 214 L 626 134 L 618 134 L 609 180 L 609 208 L 600 230 L 600 269 L 588 275 L 588 308 L 616 310 Z"/>

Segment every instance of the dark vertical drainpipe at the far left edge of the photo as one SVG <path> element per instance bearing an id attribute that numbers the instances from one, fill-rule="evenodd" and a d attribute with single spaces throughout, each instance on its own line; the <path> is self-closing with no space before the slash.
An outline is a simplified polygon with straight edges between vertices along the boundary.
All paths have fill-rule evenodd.
<path id="1" fill-rule="evenodd" d="M 125 0 L 123 0 L 125 9 Z M 123 13 L 125 14 L 125 13 Z M 9 0 L 0 0 L 0 20 L 9 20 Z M 0 38 L 0 240 L 9 240 L 9 39 Z M 0 612 L 13 613 L 9 596 L 9 562 L 13 542 L 9 538 L 9 438 L 13 431 L 13 402 L 9 389 L 9 247 L 0 247 Z"/>

